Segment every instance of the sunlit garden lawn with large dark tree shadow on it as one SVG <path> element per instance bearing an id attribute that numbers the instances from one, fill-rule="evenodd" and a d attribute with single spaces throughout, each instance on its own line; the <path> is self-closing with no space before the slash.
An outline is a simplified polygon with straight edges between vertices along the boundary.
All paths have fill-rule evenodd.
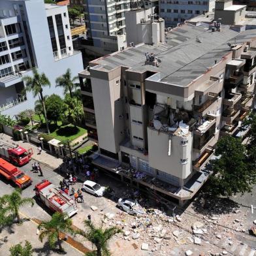
<path id="1" fill-rule="evenodd" d="M 40 121 L 38 115 L 35 115 L 33 119 Z M 41 116 L 41 120 L 43 121 L 43 125 L 45 125 L 45 120 L 43 116 Z M 62 125 L 61 121 L 57 121 L 57 125 L 55 123 L 50 123 L 49 129 L 50 135 L 57 140 L 60 140 L 61 142 L 64 142 L 65 140 L 69 140 L 71 142 L 79 136 L 86 135 L 87 133 L 87 130 L 82 127 L 75 127 L 72 124 Z"/>

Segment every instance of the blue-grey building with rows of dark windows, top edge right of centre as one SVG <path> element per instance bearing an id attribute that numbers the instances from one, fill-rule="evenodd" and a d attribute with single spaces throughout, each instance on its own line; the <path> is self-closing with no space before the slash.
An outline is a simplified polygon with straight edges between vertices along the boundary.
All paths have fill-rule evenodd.
<path id="1" fill-rule="evenodd" d="M 197 15 L 212 12 L 214 6 L 215 0 L 160 0 L 159 15 L 167 26 L 173 27 Z"/>

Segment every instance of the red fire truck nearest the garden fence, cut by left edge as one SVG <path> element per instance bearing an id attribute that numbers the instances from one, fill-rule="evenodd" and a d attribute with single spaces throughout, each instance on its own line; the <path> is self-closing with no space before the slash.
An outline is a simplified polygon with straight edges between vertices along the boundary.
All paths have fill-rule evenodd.
<path id="1" fill-rule="evenodd" d="M 28 163 L 33 155 L 31 148 L 25 150 L 18 144 L 8 143 L 0 140 L 0 157 L 7 159 L 14 165 L 22 166 Z"/>

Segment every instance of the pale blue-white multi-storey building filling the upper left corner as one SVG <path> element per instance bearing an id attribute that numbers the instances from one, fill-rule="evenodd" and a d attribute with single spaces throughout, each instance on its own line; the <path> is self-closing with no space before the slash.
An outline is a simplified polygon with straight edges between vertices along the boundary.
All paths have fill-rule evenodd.
<path id="1" fill-rule="evenodd" d="M 73 50 L 66 6 L 43 0 L 0 1 L 0 112 L 15 116 L 34 108 L 32 93 L 24 94 L 22 77 L 36 67 L 49 78 L 44 95 L 63 95 L 55 80 L 68 68 L 83 69 L 82 55 Z"/>

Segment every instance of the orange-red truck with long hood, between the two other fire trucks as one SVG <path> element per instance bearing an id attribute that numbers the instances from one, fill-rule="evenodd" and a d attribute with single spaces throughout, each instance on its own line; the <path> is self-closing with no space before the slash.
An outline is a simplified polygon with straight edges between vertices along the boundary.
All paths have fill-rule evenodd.
<path id="1" fill-rule="evenodd" d="M 22 170 L 14 167 L 14 165 L 2 158 L 0 158 L 0 174 L 7 180 L 14 182 L 14 184 L 20 188 L 27 187 L 32 183 L 32 180 L 28 175 L 24 174 Z"/>

